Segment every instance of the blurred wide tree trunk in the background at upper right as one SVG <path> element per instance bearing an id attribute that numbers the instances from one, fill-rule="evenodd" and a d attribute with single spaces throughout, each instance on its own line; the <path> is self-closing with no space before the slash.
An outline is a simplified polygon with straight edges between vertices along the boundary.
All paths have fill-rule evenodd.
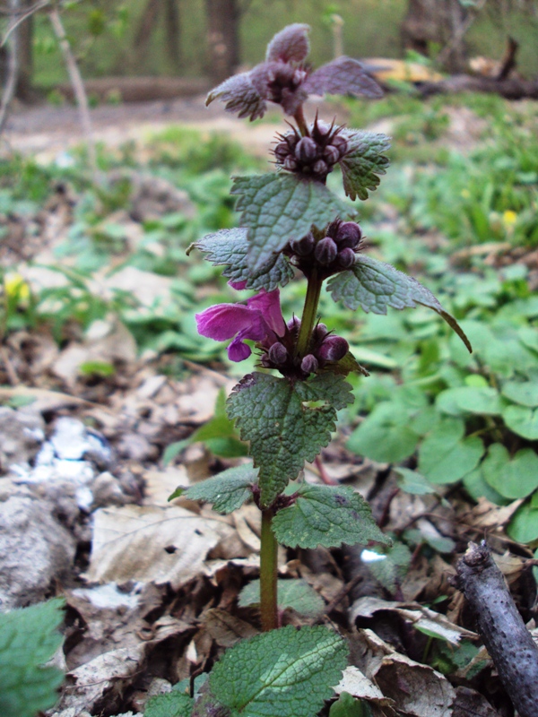
<path id="1" fill-rule="evenodd" d="M 409 0 L 402 23 L 404 48 L 429 55 L 430 43 L 440 46 L 448 72 L 464 71 L 467 11 L 459 0 Z"/>

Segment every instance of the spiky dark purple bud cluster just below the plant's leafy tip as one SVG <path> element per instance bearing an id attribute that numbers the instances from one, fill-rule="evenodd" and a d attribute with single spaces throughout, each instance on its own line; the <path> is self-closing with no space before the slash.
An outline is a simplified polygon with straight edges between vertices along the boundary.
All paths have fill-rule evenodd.
<path id="1" fill-rule="evenodd" d="M 286 134 L 279 134 L 280 142 L 273 149 L 277 165 L 289 172 L 325 181 L 334 165 L 349 150 L 349 143 L 341 134 L 342 129 L 316 119 L 310 136 L 302 137 L 295 128 Z"/>

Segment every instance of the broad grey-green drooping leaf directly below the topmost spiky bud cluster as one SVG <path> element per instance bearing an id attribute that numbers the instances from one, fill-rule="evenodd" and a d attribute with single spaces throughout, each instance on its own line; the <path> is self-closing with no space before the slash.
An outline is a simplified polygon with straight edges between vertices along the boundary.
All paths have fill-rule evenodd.
<path id="1" fill-rule="evenodd" d="M 353 211 L 319 182 L 291 174 L 234 177 L 231 194 L 239 194 L 237 209 L 248 228 L 247 264 L 260 272 L 293 239 L 322 229 L 335 215 Z"/>

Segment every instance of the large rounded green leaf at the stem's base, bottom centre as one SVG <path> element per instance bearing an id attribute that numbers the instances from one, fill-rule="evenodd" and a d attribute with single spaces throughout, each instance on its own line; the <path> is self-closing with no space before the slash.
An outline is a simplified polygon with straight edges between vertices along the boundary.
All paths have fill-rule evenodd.
<path id="1" fill-rule="evenodd" d="M 212 702 L 196 704 L 193 717 L 312 717 L 334 695 L 347 655 L 343 638 L 325 626 L 243 640 L 213 667 Z"/>

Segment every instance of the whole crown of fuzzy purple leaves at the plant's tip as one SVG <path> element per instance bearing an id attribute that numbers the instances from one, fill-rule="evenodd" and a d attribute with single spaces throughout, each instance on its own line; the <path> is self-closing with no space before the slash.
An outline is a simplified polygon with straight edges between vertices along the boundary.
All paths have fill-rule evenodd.
<path id="1" fill-rule="evenodd" d="M 265 62 L 222 82 L 209 93 L 206 104 L 221 99 L 229 112 L 253 120 L 264 117 L 267 101 L 294 115 L 308 94 L 382 95 L 377 82 L 351 57 L 338 57 L 310 73 L 303 64 L 310 50 L 309 30 L 295 23 L 278 32 L 267 46 Z"/>

